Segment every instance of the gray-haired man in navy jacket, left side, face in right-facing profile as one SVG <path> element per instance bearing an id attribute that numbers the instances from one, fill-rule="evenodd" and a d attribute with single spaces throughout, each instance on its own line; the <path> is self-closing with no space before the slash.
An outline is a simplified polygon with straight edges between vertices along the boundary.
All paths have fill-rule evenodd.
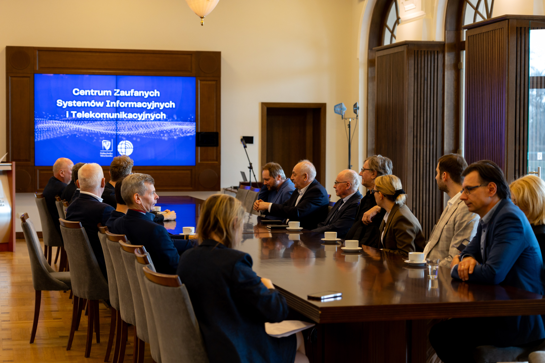
<path id="1" fill-rule="evenodd" d="M 159 196 L 155 193 L 155 180 L 148 174 L 135 173 L 123 179 L 121 196 L 129 208 L 127 213 L 113 222 L 112 233 L 125 234 L 133 245 L 146 247 L 157 272 L 175 274 L 180 254 L 196 244 L 195 240 L 173 239 L 165 227 L 153 221 L 153 210 Z"/>

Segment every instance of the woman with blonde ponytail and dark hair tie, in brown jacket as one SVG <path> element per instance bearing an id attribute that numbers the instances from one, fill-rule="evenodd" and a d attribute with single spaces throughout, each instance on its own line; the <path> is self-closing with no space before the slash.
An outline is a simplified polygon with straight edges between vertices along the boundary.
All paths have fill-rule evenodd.
<path id="1" fill-rule="evenodd" d="M 386 209 L 379 228 L 381 250 L 405 257 L 409 252 L 422 252 L 426 239 L 420 222 L 404 204 L 407 194 L 402 189 L 401 180 L 395 175 L 377 177 L 371 193 L 377 205 Z"/>

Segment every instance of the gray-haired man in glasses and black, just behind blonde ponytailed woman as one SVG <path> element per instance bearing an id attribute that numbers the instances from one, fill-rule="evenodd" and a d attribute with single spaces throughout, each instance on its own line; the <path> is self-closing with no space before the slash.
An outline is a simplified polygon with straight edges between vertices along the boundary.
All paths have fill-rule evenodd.
<path id="1" fill-rule="evenodd" d="M 360 176 L 361 184 L 365 186 L 368 191 L 365 193 L 365 196 L 361 198 L 358 211 L 356 211 L 354 224 L 344 237 L 345 239 L 357 239 L 361 244 L 379 248 L 379 228 L 380 223 L 386 214 L 386 210 L 377 207 L 377 201 L 375 201 L 371 189 L 374 188 L 374 179 L 391 173 L 392 161 L 385 156 L 373 155 L 365 159 L 364 167 L 360 171 Z M 370 210 L 376 210 L 372 220 L 362 221 L 364 214 Z"/>

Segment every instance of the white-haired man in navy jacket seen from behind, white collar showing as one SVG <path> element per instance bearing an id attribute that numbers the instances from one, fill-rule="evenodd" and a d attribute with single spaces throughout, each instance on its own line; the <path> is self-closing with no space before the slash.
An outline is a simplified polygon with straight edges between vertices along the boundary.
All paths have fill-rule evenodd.
<path id="1" fill-rule="evenodd" d="M 107 278 L 104 252 L 102 252 L 97 225 L 98 223 L 102 226 L 106 225 L 113 207 L 102 203 L 102 198 L 99 197 L 106 184 L 100 165 L 94 162 L 83 165 L 77 171 L 76 184 L 80 188 L 80 196 L 66 208 L 66 220 L 81 222 L 87 232 L 89 243 L 95 253 L 96 262 L 100 266 L 102 275 Z"/>

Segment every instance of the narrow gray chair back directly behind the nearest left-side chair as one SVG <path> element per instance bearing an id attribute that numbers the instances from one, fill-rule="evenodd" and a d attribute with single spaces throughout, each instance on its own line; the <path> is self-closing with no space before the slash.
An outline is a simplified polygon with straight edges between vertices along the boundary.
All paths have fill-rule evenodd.
<path id="1" fill-rule="evenodd" d="M 148 289 L 146 288 L 144 280 L 144 267 L 155 272 L 152 258 L 149 257 L 149 253 L 142 250 L 135 250 L 135 270 L 138 277 L 138 283 L 140 284 L 140 292 L 142 293 L 142 301 L 144 302 L 144 311 L 146 313 L 146 321 L 148 322 L 148 336 L 149 347 L 152 352 L 152 358 L 156 363 L 161 362 L 161 350 L 159 348 L 159 337 L 157 335 L 157 328 L 155 326 L 155 317 L 153 316 L 152 302 L 149 300 Z"/>

